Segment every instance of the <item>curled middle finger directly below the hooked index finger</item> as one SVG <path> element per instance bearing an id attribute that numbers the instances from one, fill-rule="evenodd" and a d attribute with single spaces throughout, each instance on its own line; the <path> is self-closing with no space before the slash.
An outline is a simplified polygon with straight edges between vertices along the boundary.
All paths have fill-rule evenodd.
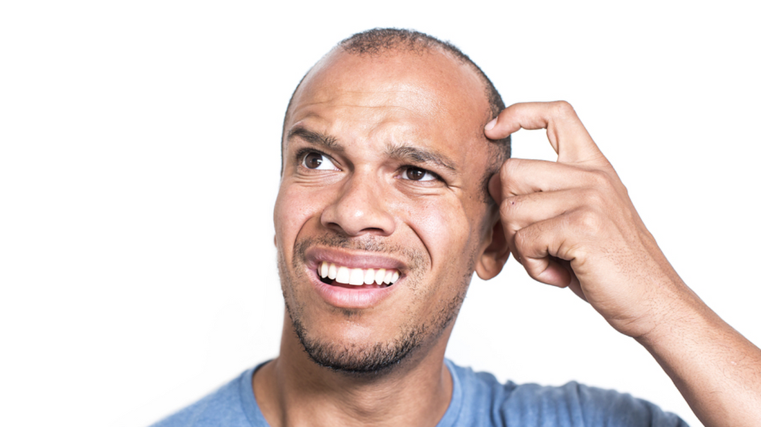
<path id="1" fill-rule="evenodd" d="M 618 177 L 610 164 L 597 169 L 546 160 L 508 159 L 489 179 L 489 195 L 501 203 L 504 198 L 537 191 L 558 191 L 573 187 L 616 185 Z"/>

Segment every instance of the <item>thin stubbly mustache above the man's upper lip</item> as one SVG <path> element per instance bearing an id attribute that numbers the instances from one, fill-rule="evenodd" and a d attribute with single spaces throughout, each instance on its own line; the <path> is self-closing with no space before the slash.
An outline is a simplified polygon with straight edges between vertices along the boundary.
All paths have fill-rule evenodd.
<path id="1" fill-rule="evenodd" d="M 296 256 L 293 260 L 294 264 L 296 263 L 296 260 L 304 260 L 307 255 L 307 250 L 313 246 L 400 255 L 403 260 L 405 260 L 406 264 L 413 270 L 424 265 L 428 259 L 422 251 L 410 248 L 409 246 L 396 245 L 387 242 L 381 237 L 363 236 L 357 238 L 334 234 L 307 237 L 306 239 L 299 241 L 295 247 Z"/>

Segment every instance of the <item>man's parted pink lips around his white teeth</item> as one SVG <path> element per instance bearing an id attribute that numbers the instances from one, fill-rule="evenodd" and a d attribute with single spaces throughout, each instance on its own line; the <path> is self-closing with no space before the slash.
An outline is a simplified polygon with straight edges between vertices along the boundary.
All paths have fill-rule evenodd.
<path id="1" fill-rule="evenodd" d="M 317 265 L 322 261 L 332 262 L 350 268 L 394 268 L 402 277 L 392 286 L 383 288 L 362 288 L 332 286 L 323 283 L 317 275 Z M 342 251 L 332 248 L 310 248 L 306 253 L 307 277 L 317 294 L 337 308 L 371 308 L 390 297 L 405 280 L 405 264 L 395 258 L 368 252 Z"/>

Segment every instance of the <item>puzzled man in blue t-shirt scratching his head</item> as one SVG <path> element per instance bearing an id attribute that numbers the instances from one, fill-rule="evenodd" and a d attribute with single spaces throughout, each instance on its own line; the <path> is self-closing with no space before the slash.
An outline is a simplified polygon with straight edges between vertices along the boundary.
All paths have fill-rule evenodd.
<path id="1" fill-rule="evenodd" d="M 556 163 L 509 157 L 546 128 Z M 421 33 L 344 40 L 285 115 L 280 356 L 158 425 L 683 425 L 613 391 L 444 360 L 473 272 L 511 253 L 642 343 L 705 425 L 761 422 L 761 350 L 680 280 L 567 103 L 501 103 Z"/>

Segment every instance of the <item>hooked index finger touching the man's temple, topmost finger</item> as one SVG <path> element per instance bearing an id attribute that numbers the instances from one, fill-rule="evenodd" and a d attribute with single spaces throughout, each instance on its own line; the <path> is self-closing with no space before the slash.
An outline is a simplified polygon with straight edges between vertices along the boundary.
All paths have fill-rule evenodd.
<path id="1" fill-rule="evenodd" d="M 524 129 L 547 129 L 547 138 L 562 163 L 588 163 L 604 159 L 571 104 L 517 103 L 502 110 L 484 129 L 486 138 L 498 140 Z"/>

